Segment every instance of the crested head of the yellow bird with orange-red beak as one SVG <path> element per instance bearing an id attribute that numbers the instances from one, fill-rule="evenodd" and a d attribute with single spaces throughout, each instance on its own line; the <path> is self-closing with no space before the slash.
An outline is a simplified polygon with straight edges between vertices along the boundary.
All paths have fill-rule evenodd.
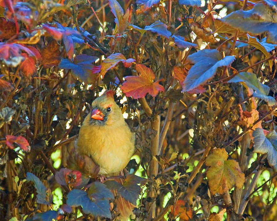
<path id="1" fill-rule="evenodd" d="M 118 105 L 114 101 L 114 91 L 106 91 L 103 95 L 96 98 L 92 104 L 89 122 L 94 125 L 113 124 L 122 117 Z"/>

